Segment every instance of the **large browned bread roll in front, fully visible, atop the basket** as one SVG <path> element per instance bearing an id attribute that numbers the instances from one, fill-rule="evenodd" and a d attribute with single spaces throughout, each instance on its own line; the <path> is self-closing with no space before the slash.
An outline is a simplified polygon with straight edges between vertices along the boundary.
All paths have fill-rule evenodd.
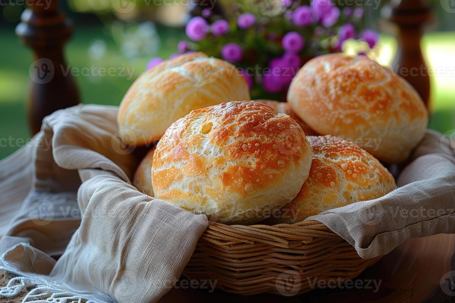
<path id="1" fill-rule="evenodd" d="M 226 224 L 250 224 L 290 202 L 311 148 L 289 116 L 254 101 L 193 110 L 173 123 L 152 165 L 155 197 Z"/>

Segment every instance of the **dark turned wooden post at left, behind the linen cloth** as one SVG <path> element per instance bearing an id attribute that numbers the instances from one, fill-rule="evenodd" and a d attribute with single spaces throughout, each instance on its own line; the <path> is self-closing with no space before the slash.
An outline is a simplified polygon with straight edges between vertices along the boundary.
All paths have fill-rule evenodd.
<path id="1" fill-rule="evenodd" d="M 33 50 L 32 80 L 28 99 L 28 119 L 32 134 L 40 131 L 42 119 L 56 111 L 79 104 L 77 91 L 63 55 L 63 45 L 73 26 L 58 9 L 57 0 L 28 0 L 16 34 Z"/>

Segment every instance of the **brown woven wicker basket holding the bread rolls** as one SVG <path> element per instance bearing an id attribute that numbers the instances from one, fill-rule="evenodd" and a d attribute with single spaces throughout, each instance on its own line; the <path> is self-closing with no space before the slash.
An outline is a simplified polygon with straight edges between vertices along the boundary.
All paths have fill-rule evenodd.
<path id="1" fill-rule="evenodd" d="M 209 222 L 183 274 L 216 280 L 216 288 L 229 293 L 292 296 L 317 287 L 315 281 L 355 278 L 379 259 L 360 258 L 317 221 L 274 226 Z"/>

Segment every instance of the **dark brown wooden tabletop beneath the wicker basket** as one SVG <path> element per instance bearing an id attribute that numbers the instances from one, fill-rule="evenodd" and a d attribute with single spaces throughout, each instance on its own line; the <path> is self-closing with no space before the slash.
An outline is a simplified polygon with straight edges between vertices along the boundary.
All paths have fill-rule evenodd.
<path id="1" fill-rule="evenodd" d="M 455 302 L 455 296 L 444 293 L 440 284 L 445 274 L 455 270 L 454 248 L 455 234 L 406 240 L 358 277 L 364 282 L 372 279 L 377 283 L 381 281 L 377 292 L 374 292 L 374 287 L 325 288 L 297 297 L 271 294 L 243 297 L 222 291 L 209 293 L 207 290 L 179 287 L 172 288 L 159 302 Z"/>

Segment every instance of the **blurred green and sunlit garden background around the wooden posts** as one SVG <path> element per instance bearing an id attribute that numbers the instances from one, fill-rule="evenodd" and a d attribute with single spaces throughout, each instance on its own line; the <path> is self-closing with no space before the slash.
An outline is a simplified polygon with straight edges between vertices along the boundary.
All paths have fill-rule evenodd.
<path id="1" fill-rule="evenodd" d="M 178 41 L 185 39 L 182 24 L 187 8 L 151 8 L 139 15 L 122 15 L 120 18 L 107 9 L 106 1 L 90 1 L 61 1 L 63 10 L 75 23 L 74 35 L 66 45 L 67 63 L 78 68 L 91 65 L 134 68 L 131 79 L 107 75 L 75 77 L 83 103 L 118 105 L 134 79 L 145 70 L 150 58 L 167 58 L 176 51 Z M 430 128 L 445 132 L 455 128 L 455 18 L 438 4 L 439 1 L 435 1 L 437 18 L 422 40 L 422 50 L 429 67 L 444 70 L 431 78 Z M 14 32 L 23 9 L 17 5 L 3 6 L 0 20 L 3 50 L 0 57 L 0 138 L 12 138 L 16 142 L 1 144 L 0 159 L 23 145 L 23 141 L 17 139 L 30 138 L 26 99 L 30 87 L 29 68 L 34 59 Z M 369 16 L 368 23 L 376 25 L 379 19 L 376 12 Z M 382 34 L 379 57 L 383 64 L 391 62 L 395 49 L 394 37 Z"/>

